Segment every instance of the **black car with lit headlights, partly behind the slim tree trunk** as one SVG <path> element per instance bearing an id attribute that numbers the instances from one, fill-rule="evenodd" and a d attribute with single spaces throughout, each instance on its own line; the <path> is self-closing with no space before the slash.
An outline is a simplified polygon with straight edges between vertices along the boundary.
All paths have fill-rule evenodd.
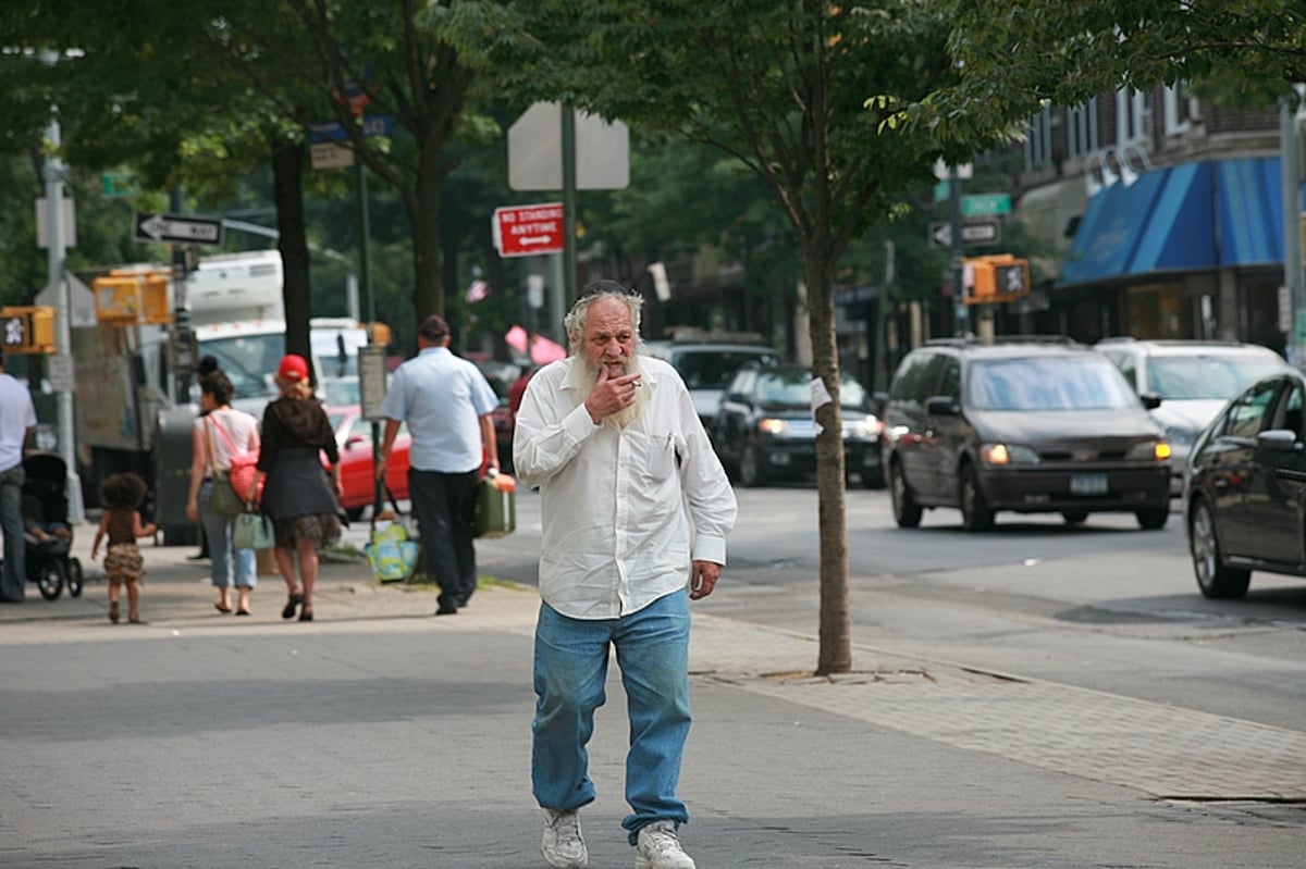
<path id="1" fill-rule="evenodd" d="M 801 479 L 816 472 L 816 421 L 811 410 L 811 369 L 803 365 L 746 363 L 735 372 L 716 414 L 713 442 L 726 470 L 744 485 Z M 884 485 L 880 433 L 871 398 L 857 380 L 840 378 L 844 415 L 844 467 L 863 485 Z"/>

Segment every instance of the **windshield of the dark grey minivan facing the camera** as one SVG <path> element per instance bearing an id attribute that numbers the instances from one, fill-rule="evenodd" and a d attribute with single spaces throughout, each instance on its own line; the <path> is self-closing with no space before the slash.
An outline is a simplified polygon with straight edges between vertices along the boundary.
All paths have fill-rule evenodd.
<path id="1" fill-rule="evenodd" d="M 1029 356 L 970 365 L 966 385 L 978 410 L 1113 410 L 1138 395 L 1106 359 Z"/>

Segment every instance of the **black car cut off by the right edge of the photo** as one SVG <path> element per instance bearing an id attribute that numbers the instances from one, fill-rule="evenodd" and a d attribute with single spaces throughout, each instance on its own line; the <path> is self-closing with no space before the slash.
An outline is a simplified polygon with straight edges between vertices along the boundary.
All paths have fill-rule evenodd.
<path id="1" fill-rule="evenodd" d="M 1234 397 L 1188 455 L 1183 510 L 1205 598 L 1247 594 L 1252 570 L 1306 577 L 1306 377 L 1262 377 Z"/>

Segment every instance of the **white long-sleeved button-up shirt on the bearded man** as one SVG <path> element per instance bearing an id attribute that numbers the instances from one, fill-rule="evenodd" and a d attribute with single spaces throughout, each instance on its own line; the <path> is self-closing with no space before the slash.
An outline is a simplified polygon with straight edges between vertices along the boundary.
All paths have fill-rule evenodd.
<path id="1" fill-rule="evenodd" d="M 690 562 L 726 562 L 734 489 L 667 363 L 641 356 L 649 397 L 624 429 L 585 410 L 584 361 L 541 369 L 517 411 L 517 479 L 539 487 L 539 594 L 572 618 L 616 618 L 683 588 Z"/>

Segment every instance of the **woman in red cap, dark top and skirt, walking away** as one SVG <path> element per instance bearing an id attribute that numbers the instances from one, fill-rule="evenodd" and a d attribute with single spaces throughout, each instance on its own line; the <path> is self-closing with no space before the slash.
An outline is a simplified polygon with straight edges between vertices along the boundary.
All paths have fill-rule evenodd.
<path id="1" fill-rule="evenodd" d="M 308 363 L 294 354 L 277 368 L 281 397 L 263 414 L 263 444 L 259 476 L 268 475 L 263 511 L 277 530 L 273 555 L 286 579 L 289 599 L 282 618 L 313 620 L 313 583 L 317 581 L 317 547 L 340 536 L 340 450 L 326 411 L 313 398 Z M 323 471 L 320 453 L 330 462 L 330 478 Z M 295 556 L 299 582 L 295 582 Z"/>

